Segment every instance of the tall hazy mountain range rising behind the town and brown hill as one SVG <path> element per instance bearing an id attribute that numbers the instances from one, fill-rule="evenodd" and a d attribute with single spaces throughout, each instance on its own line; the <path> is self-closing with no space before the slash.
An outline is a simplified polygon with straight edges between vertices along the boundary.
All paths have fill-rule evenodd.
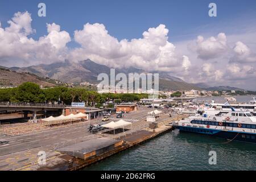
<path id="1" fill-rule="evenodd" d="M 0 67 L 1 68 L 1 67 Z M 11 67 L 4 69 L 10 69 L 10 71 L 16 73 L 32 73 L 38 77 L 51 78 L 53 80 L 59 80 L 61 82 L 71 83 L 81 83 L 81 82 L 90 82 L 92 84 L 97 84 L 97 76 L 100 73 L 106 73 L 110 75 L 110 67 L 106 65 L 97 64 L 94 61 L 87 59 L 78 62 L 72 61 L 58 61 L 52 64 L 39 64 L 32 65 L 30 67 Z M 128 77 L 129 73 L 147 73 L 143 69 L 129 67 L 129 68 L 116 68 L 115 75 L 118 73 L 125 73 Z M 159 73 L 159 89 L 160 90 L 212 90 L 212 89 L 224 89 L 224 86 L 218 88 L 213 87 L 210 88 L 207 84 L 199 83 L 199 84 L 190 84 L 185 82 L 184 80 L 171 76 L 166 72 L 158 72 Z M 227 87 L 226 89 L 229 89 Z M 233 90 L 237 90 L 238 88 L 233 88 Z M 242 89 L 238 89 L 242 90 Z"/>

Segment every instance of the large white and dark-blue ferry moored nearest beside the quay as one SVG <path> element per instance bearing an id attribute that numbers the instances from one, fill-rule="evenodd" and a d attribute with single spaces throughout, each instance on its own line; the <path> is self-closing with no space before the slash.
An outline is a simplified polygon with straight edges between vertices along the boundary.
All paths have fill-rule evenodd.
<path id="1" fill-rule="evenodd" d="M 249 111 L 218 111 L 214 115 L 195 115 L 178 123 L 180 131 L 229 140 L 256 143 L 256 117 Z"/>

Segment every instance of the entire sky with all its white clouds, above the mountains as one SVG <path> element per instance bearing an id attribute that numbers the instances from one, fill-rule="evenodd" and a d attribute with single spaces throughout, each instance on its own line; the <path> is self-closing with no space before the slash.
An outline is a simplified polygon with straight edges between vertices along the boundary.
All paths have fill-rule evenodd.
<path id="1" fill-rule="evenodd" d="M 0 22 L 3 66 L 91 59 L 256 90 L 255 0 L 0 0 Z"/>

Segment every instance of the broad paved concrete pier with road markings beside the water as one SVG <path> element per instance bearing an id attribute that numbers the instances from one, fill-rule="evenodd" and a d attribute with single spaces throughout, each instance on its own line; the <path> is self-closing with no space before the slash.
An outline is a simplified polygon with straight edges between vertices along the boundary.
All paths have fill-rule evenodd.
<path id="1" fill-rule="evenodd" d="M 137 111 L 125 113 L 122 118 L 124 121 L 131 122 L 133 127 L 127 126 L 127 129 L 113 134 L 103 130 L 99 133 L 90 133 L 88 127 L 90 124 L 102 124 L 101 118 L 91 119 L 81 123 L 65 125 L 60 127 L 47 127 L 42 123 L 15 123 L 0 127 L 0 165 L 1 170 L 77 170 L 102 159 L 108 158 L 120 151 L 133 146 L 139 146 L 140 143 L 157 137 L 173 128 L 168 125 L 172 121 L 187 117 L 186 115 L 174 114 L 169 117 L 168 110 L 162 110 L 158 127 L 151 129 L 150 122 L 146 121 L 147 113 L 151 111 L 147 107 L 139 107 Z M 116 115 L 110 117 L 110 121 L 118 121 Z M 39 127 L 39 128 L 38 128 Z M 7 131 L 16 131 L 17 129 L 31 130 L 30 132 L 9 135 Z M 35 131 L 34 131 L 35 130 Z M 124 131 L 124 132 L 123 132 Z M 69 147 L 76 144 L 82 144 L 80 150 L 88 149 L 84 144 L 88 144 L 95 139 L 113 139 L 120 142 L 112 144 L 112 147 L 99 147 L 97 150 L 83 152 L 84 157 L 68 154 L 60 150 L 63 147 Z M 90 144 L 89 144 L 90 146 Z M 111 146 L 111 144 L 109 144 Z M 39 164 L 39 153 L 45 152 L 46 164 Z M 74 150 L 73 150 L 74 151 Z M 102 152 L 100 152 L 102 151 Z M 86 157 L 85 157 L 86 155 Z M 89 158 L 88 158 L 89 157 Z"/>

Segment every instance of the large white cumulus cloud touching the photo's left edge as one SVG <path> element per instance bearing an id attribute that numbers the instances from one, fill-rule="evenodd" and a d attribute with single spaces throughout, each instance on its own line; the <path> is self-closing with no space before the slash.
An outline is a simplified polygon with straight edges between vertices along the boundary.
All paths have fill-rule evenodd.
<path id="1" fill-rule="evenodd" d="M 1 64 L 31 65 L 65 58 L 66 44 L 71 41 L 68 32 L 60 31 L 60 26 L 55 23 L 47 24 L 49 34 L 34 40 L 28 37 L 35 33 L 31 22 L 31 14 L 18 12 L 8 21 L 9 27 L 0 27 Z"/>

